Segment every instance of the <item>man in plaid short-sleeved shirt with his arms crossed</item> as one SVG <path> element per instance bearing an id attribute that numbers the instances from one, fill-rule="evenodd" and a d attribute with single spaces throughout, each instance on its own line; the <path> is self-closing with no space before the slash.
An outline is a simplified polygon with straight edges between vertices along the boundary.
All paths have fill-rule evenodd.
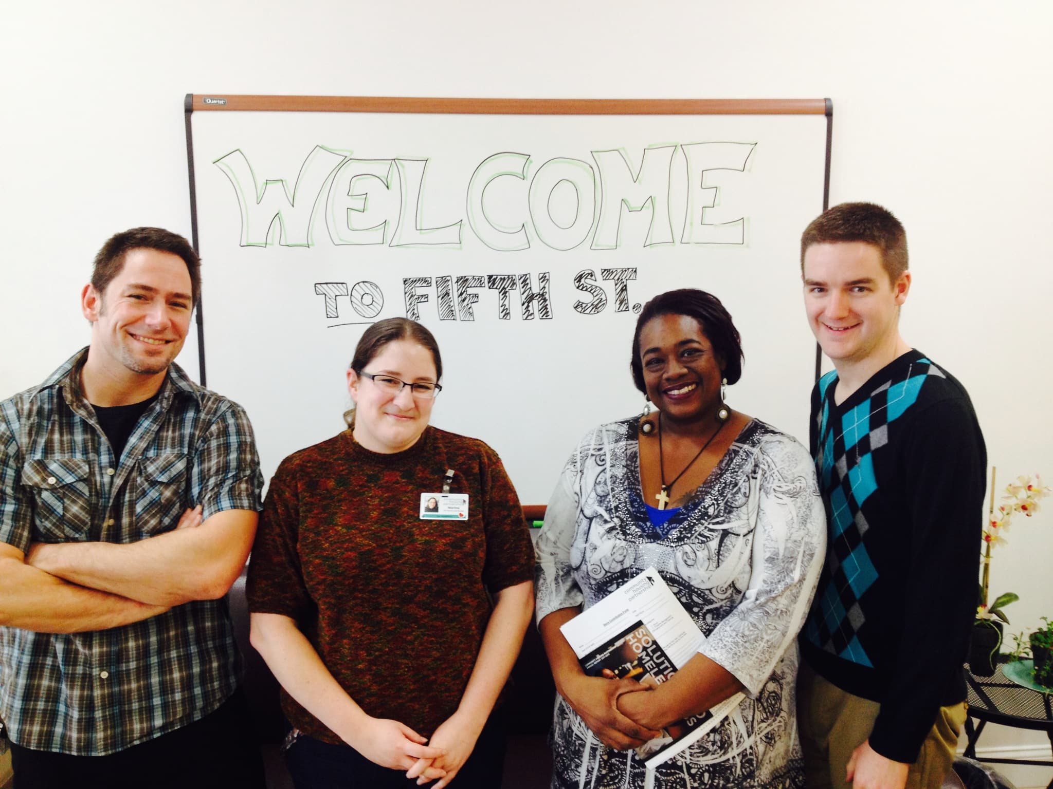
<path id="1" fill-rule="evenodd" d="M 244 411 L 173 360 L 181 236 L 99 250 L 91 344 L 0 403 L 0 719 L 19 789 L 263 785 L 224 595 L 262 478 Z"/>

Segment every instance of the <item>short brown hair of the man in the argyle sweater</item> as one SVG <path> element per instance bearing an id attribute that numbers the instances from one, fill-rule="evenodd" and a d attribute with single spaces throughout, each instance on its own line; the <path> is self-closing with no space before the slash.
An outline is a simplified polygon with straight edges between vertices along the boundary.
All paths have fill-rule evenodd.
<path id="1" fill-rule="evenodd" d="M 828 208 L 804 228 L 800 237 L 800 270 L 804 252 L 813 244 L 861 241 L 877 248 L 881 265 L 895 282 L 907 270 L 907 230 L 887 208 L 874 203 L 841 203 Z"/>

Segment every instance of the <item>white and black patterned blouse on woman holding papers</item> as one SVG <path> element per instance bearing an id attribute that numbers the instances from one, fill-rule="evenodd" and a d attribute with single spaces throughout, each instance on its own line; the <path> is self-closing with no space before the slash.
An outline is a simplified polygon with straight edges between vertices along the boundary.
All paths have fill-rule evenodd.
<path id="1" fill-rule="evenodd" d="M 754 420 L 659 531 L 640 490 L 638 422 L 596 428 L 568 461 L 537 543 L 537 619 L 588 608 L 655 567 L 706 634 L 700 651 L 734 674 L 747 697 L 659 766 L 654 786 L 801 787 L 796 635 L 826 548 L 812 458 Z M 644 785 L 634 752 L 604 746 L 558 696 L 553 749 L 553 787 Z"/>

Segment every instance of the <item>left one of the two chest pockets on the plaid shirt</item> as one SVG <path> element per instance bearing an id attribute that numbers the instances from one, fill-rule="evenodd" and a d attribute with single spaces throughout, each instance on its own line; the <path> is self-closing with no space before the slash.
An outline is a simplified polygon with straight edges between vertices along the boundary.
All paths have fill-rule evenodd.
<path id="1" fill-rule="evenodd" d="M 27 461 L 22 484 L 33 492 L 33 539 L 45 543 L 87 540 L 92 527 L 92 484 L 82 458 Z"/>

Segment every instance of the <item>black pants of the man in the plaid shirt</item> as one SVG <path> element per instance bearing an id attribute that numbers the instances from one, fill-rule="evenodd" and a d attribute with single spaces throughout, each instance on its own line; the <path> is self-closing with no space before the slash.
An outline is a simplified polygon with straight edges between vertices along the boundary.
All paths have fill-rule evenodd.
<path id="1" fill-rule="evenodd" d="M 200 721 L 106 756 L 11 744 L 15 789 L 263 789 L 263 762 L 240 690 Z"/>

